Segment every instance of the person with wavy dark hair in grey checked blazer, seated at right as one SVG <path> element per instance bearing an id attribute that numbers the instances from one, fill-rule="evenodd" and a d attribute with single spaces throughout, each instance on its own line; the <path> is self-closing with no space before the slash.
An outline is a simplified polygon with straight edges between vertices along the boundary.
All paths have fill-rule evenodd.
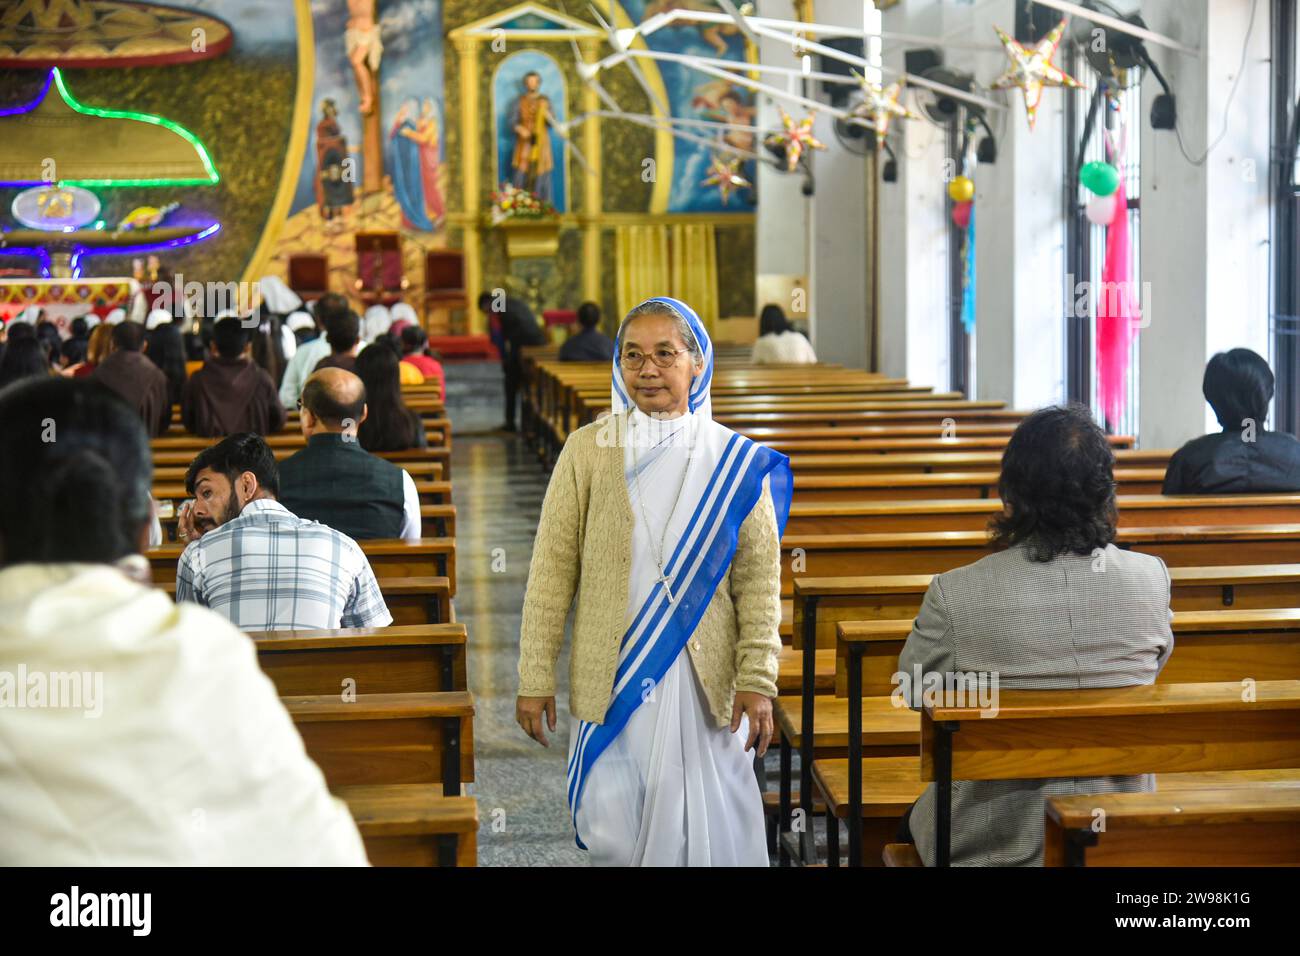
<path id="1" fill-rule="evenodd" d="M 998 550 L 935 575 L 900 671 L 996 674 L 996 689 L 1153 683 L 1174 648 L 1169 571 L 1115 548 L 1113 467 L 1087 408 L 1026 418 L 1002 454 L 1002 514 L 989 524 Z M 1041 866 L 1044 795 L 1153 788 L 1149 775 L 954 780 L 952 864 Z M 935 865 L 935 784 L 900 838 Z"/>

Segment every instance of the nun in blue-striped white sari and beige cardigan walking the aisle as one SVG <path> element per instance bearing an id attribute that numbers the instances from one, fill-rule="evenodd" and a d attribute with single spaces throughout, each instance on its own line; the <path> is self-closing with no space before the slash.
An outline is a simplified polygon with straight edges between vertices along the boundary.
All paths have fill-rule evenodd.
<path id="1" fill-rule="evenodd" d="M 549 745 L 576 596 L 568 801 L 593 864 L 767 865 L 748 752 L 772 736 L 792 481 L 785 455 L 712 420 L 712 371 L 689 306 L 633 308 L 612 414 L 569 436 L 542 506 L 516 719 Z"/>

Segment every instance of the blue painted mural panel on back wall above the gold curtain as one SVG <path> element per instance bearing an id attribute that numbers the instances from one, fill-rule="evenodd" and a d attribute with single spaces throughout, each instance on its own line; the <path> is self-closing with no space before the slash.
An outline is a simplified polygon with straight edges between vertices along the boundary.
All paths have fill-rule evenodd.
<path id="1" fill-rule="evenodd" d="M 633 23 L 641 23 L 673 9 L 719 10 L 710 0 L 611 0 L 619 3 Z M 707 56 L 745 61 L 745 38 L 736 26 L 725 23 L 679 23 L 656 30 L 645 40 L 650 49 L 688 56 Z M 679 62 L 640 60 L 642 69 L 658 70 L 668 96 L 668 108 L 676 117 L 723 122 L 755 122 L 754 94 L 725 79 L 693 70 Z M 733 130 L 716 133 L 718 150 L 736 146 L 755 150 L 753 133 Z M 668 212 L 740 212 L 753 208 L 754 193 L 744 190 L 723 206 L 722 195 L 702 181 L 708 174 L 712 150 L 701 143 L 673 138 L 672 191 Z M 745 178 L 755 181 L 753 161 L 745 163 Z"/>

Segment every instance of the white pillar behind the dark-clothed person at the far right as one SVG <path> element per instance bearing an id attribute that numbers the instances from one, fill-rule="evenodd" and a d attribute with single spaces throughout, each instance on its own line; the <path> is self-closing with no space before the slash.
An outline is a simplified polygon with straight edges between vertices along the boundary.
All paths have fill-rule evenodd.
<path id="1" fill-rule="evenodd" d="M 1178 127 L 1152 130 L 1160 92 L 1144 78 L 1140 336 L 1140 436 L 1145 447 L 1176 447 L 1217 431 L 1201 395 L 1205 362 L 1236 346 L 1269 354 L 1269 5 L 1258 1 L 1245 69 L 1231 112 L 1227 98 L 1242 64 L 1248 0 L 1148 0 L 1148 26 L 1200 57 L 1150 47 L 1174 88 Z M 1225 130 L 1225 117 L 1227 126 Z"/>

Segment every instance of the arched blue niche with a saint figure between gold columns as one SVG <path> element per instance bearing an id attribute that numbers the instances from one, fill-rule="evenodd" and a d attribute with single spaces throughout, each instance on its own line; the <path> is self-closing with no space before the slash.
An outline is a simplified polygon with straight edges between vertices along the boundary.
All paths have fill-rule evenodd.
<path id="1" fill-rule="evenodd" d="M 568 211 L 567 114 L 559 64 L 538 49 L 507 56 L 493 75 L 495 182 L 526 189 L 556 212 Z"/>

